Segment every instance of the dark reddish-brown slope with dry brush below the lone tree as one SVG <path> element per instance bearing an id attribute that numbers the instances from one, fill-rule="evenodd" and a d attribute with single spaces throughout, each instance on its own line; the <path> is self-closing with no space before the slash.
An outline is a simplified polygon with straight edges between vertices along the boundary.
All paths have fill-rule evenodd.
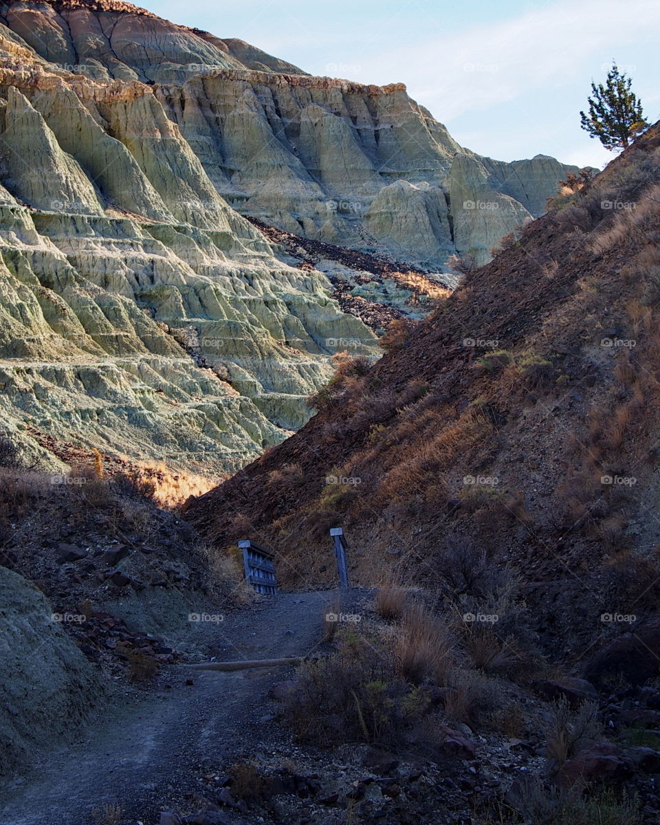
<path id="1" fill-rule="evenodd" d="M 344 365 L 302 431 L 191 502 L 193 523 L 219 547 L 274 547 L 292 583 L 332 581 L 337 524 L 363 583 L 395 563 L 431 585 L 463 537 L 524 571 L 563 653 L 607 638 L 601 614 L 643 628 L 660 573 L 658 147 L 656 125 L 371 370 Z"/>

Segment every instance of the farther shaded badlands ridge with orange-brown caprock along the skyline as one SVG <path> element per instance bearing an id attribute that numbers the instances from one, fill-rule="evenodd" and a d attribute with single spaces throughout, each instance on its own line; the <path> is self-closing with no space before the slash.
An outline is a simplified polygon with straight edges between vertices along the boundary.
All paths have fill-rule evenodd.
<path id="1" fill-rule="evenodd" d="M 152 85 L 165 132 L 178 125 L 216 192 L 243 214 L 309 238 L 403 253 L 436 270 L 453 252 L 485 261 L 502 234 L 541 214 L 558 181 L 577 171 L 543 155 L 502 163 L 461 148 L 402 83 L 314 78 L 243 40 L 175 26 L 124 2 L 12 2 L 3 19 L 7 36 L 55 71 Z M 138 95 L 127 106 L 125 127 L 147 102 Z M 152 155 L 163 136 L 151 136 Z M 139 144 L 144 152 L 144 137 Z M 463 200 L 475 197 L 497 212 L 464 214 Z"/>

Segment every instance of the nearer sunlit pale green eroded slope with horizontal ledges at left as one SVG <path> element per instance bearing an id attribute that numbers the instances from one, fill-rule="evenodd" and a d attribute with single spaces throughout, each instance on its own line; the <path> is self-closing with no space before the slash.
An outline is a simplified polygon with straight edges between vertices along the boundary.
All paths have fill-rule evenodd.
<path id="1" fill-rule="evenodd" d="M 332 339 L 373 332 L 224 203 L 150 87 L 1 45 L 3 428 L 236 469 L 304 423 Z"/>

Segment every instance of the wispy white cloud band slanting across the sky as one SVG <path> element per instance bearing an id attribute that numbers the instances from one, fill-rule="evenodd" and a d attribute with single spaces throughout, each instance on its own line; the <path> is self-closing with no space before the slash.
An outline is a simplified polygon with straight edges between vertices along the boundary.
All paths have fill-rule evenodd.
<path id="1" fill-rule="evenodd" d="M 390 80 L 405 78 L 413 97 L 447 121 L 582 79 L 590 56 L 657 38 L 658 26 L 657 0 L 554 2 L 495 25 L 370 55 L 361 74 L 382 78 L 385 67 L 394 70 Z M 601 62 L 590 67 L 593 73 L 601 72 Z"/>

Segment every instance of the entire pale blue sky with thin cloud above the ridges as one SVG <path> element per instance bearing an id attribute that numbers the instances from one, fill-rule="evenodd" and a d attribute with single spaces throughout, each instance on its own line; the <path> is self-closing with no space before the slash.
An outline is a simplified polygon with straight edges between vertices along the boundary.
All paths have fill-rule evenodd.
<path id="1" fill-rule="evenodd" d="M 580 129 L 613 58 L 660 118 L 660 0 L 142 0 L 313 74 L 404 82 L 463 146 L 502 160 L 603 166 Z"/>

